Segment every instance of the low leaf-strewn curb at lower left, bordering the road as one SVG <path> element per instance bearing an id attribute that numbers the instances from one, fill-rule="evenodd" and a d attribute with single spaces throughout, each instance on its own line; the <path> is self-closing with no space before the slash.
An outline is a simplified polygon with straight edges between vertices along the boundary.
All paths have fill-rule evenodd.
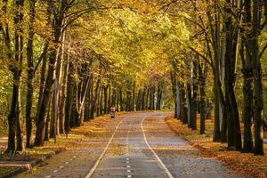
<path id="1" fill-rule="evenodd" d="M 61 153 L 62 151 L 64 151 L 64 150 L 52 151 L 52 152 L 48 153 L 47 155 L 45 155 L 42 158 L 36 158 L 36 160 L 33 160 L 33 161 L 29 162 L 27 164 L 27 166 L 21 166 L 21 167 L 18 167 L 16 170 L 11 171 L 11 172 L 9 172 L 7 174 L 0 175 L 0 178 L 10 178 L 10 177 L 13 177 L 16 174 L 20 174 L 20 173 L 23 173 L 25 171 L 29 171 L 33 167 L 38 166 L 41 163 L 44 163 L 47 159 L 52 158 L 54 155 L 57 155 L 57 154 Z"/>

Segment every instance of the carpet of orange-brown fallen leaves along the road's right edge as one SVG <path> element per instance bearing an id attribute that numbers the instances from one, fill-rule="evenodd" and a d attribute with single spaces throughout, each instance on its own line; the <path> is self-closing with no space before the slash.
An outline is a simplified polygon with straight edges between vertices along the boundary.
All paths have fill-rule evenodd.
<path id="1" fill-rule="evenodd" d="M 182 122 L 173 116 L 166 117 L 166 123 L 176 134 L 182 136 L 198 150 L 201 150 L 202 156 L 218 158 L 231 169 L 242 174 L 259 178 L 267 177 L 266 156 L 255 156 L 252 153 L 227 150 L 226 143 L 212 142 L 212 120 L 206 120 L 206 134 L 203 135 L 199 135 L 198 131 L 192 131 L 187 125 L 182 125 Z M 267 153 L 266 144 L 264 144 L 264 151 Z"/>

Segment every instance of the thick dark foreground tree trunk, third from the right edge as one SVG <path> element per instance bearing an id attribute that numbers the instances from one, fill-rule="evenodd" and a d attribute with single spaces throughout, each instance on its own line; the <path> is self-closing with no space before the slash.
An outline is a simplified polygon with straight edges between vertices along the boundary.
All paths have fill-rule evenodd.
<path id="1" fill-rule="evenodd" d="M 225 97 L 228 99 L 228 147 L 234 146 L 235 150 L 242 149 L 241 132 L 239 125 L 239 109 L 236 101 L 234 87 L 236 83 L 236 61 L 239 43 L 239 30 L 233 24 L 231 17 L 231 0 L 227 0 L 225 11 L 228 13 L 225 22 L 226 29 L 226 52 L 225 52 Z M 232 142 L 233 140 L 233 142 Z"/>

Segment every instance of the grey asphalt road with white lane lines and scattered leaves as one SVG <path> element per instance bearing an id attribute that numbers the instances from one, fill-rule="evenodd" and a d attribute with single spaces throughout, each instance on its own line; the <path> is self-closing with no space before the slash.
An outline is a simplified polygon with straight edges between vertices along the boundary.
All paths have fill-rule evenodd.
<path id="1" fill-rule="evenodd" d="M 134 113 L 106 125 L 99 148 L 68 150 L 17 177 L 242 177 L 198 150 L 166 125 L 167 112 Z"/>

